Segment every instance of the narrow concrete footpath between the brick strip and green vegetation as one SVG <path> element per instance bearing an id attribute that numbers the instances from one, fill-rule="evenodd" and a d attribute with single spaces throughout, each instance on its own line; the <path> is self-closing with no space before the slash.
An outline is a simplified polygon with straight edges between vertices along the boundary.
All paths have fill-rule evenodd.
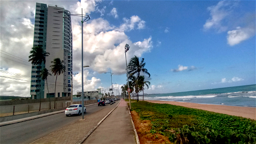
<path id="1" fill-rule="evenodd" d="M 83 144 L 136 144 L 129 110 L 121 99 L 118 107 Z"/>

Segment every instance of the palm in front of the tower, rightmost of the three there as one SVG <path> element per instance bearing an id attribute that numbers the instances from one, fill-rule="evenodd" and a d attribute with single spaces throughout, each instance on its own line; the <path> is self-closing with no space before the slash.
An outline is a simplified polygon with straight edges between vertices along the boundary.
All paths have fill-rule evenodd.
<path id="1" fill-rule="evenodd" d="M 53 63 L 53 65 L 51 65 L 51 72 L 54 73 L 54 75 L 56 75 L 56 80 L 55 80 L 55 88 L 54 88 L 54 108 L 55 108 L 55 93 L 56 93 L 56 82 L 57 82 L 57 77 L 58 75 L 60 75 L 61 73 L 65 72 L 66 67 L 62 64 L 64 63 L 63 60 L 61 60 L 60 58 L 56 58 L 53 61 L 51 61 L 51 63 Z"/>

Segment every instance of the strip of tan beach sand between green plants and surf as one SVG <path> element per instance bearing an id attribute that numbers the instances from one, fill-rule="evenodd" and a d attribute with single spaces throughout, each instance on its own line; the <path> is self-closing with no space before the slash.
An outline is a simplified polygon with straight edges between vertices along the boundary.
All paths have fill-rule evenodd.
<path id="1" fill-rule="evenodd" d="M 213 111 L 213 112 L 228 114 L 232 116 L 239 116 L 239 117 L 256 120 L 256 108 L 223 106 L 223 105 L 206 105 L 206 104 L 195 104 L 195 103 L 175 102 L 175 101 L 158 101 L 158 100 L 146 100 L 146 101 L 151 103 L 158 103 L 158 104 L 171 104 L 171 105 L 183 106 L 187 108 L 203 109 L 207 111 Z"/>

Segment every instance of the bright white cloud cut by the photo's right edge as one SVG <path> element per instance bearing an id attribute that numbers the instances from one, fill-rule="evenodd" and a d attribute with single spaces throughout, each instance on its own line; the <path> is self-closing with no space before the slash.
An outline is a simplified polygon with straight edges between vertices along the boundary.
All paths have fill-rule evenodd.
<path id="1" fill-rule="evenodd" d="M 228 31 L 228 36 L 227 36 L 228 44 L 230 46 L 234 46 L 254 35 L 255 35 L 255 26 L 246 27 L 246 28 L 237 27 L 235 30 Z"/>

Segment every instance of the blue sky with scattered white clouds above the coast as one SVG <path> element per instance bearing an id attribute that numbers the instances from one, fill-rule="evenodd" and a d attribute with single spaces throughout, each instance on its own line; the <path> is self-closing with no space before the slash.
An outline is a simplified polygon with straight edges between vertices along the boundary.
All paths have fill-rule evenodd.
<path id="1" fill-rule="evenodd" d="M 84 90 L 126 83 L 127 62 L 144 58 L 144 93 L 256 84 L 256 1 L 1 0 L 0 95 L 30 96 L 36 2 L 90 16 L 84 23 Z M 81 19 L 72 17 L 73 94 L 81 91 Z M 49 83 L 54 84 L 54 80 Z M 121 93 L 121 92 L 120 92 Z M 116 95 L 116 88 L 114 89 Z"/>

